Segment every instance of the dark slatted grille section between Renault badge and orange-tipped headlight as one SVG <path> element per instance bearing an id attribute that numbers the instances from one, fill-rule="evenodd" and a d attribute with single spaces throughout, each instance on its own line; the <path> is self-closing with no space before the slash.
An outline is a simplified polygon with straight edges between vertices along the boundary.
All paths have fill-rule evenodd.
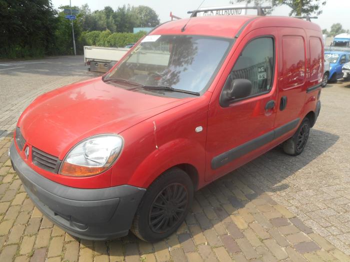
<path id="1" fill-rule="evenodd" d="M 58 157 L 49 155 L 35 147 L 31 147 L 31 161 L 35 166 L 52 173 L 58 173 L 61 164 Z"/>

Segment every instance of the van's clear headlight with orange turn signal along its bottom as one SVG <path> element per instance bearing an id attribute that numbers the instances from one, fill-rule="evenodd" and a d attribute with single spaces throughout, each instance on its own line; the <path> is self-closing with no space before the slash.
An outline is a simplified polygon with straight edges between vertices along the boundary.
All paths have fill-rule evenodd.
<path id="1" fill-rule="evenodd" d="M 122 146 L 122 137 L 114 134 L 86 138 L 66 154 L 58 173 L 76 177 L 100 174 L 114 163 Z"/>

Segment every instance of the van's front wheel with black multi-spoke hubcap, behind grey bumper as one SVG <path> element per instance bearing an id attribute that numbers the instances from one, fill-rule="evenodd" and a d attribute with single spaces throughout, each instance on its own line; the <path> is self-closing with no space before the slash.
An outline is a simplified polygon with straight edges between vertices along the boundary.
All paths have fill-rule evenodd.
<path id="1" fill-rule="evenodd" d="M 193 200 L 193 184 L 179 168 L 157 178 L 144 194 L 131 225 L 131 232 L 146 242 L 169 237 L 184 221 Z"/>

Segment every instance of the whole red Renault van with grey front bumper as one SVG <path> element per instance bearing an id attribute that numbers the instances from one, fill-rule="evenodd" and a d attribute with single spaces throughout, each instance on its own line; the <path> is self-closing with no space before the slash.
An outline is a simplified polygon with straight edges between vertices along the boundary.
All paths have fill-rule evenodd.
<path id="1" fill-rule="evenodd" d="M 279 144 L 303 152 L 321 107 L 320 27 L 196 12 L 19 117 L 13 169 L 69 234 L 106 240 L 131 230 L 157 242 L 183 223 L 195 190 Z"/>

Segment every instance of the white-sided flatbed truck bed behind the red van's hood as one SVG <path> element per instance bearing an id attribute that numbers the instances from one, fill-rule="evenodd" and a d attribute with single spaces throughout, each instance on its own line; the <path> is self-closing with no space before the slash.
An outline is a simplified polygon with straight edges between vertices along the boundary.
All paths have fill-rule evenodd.
<path id="1" fill-rule="evenodd" d="M 84 62 L 89 71 L 107 72 L 129 48 L 84 46 Z"/>

